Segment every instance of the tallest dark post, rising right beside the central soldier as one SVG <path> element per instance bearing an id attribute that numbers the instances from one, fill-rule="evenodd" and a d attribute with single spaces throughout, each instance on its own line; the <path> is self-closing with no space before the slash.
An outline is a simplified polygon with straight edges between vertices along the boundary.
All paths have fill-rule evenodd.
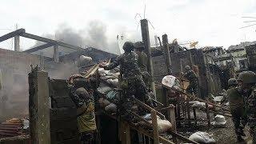
<path id="1" fill-rule="evenodd" d="M 154 94 L 155 92 L 155 85 L 154 85 L 154 70 L 153 70 L 153 63 L 152 63 L 152 56 L 151 56 L 151 49 L 150 49 L 150 33 L 149 33 L 149 24 L 146 19 L 141 20 L 141 30 L 142 30 L 142 42 L 144 43 L 145 46 L 145 52 L 148 56 L 148 66 L 147 70 L 150 73 L 151 77 L 151 89 Z"/>

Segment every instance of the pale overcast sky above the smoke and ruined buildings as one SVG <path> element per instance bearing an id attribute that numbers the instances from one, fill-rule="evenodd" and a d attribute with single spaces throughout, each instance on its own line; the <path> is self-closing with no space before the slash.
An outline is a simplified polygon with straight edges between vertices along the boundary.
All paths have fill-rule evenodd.
<path id="1" fill-rule="evenodd" d="M 146 18 L 154 26 L 152 45 L 154 34 L 168 34 L 169 41 L 178 38 L 179 43 L 198 41 L 198 46 L 228 47 L 256 40 L 256 26 L 239 29 L 250 24 L 243 21 L 256 20 L 242 18 L 256 17 L 255 0 L 1 0 L 0 35 L 15 23 L 31 34 L 54 34 L 62 25 L 80 34 L 97 21 L 106 29 L 107 42 L 115 42 L 117 34 L 134 41 L 141 39 L 140 18 L 134 17 L 143 17 L 145 3 Z M 22 39 L 23 50 L 33 45 Z M 11 41 L 0 47 L 10 49 Z"/>

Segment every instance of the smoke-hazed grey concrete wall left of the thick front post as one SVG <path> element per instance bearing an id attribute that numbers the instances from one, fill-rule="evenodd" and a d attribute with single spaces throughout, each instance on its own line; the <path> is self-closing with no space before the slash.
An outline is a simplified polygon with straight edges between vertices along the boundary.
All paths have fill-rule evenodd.
<path id="1" fill-rule="evenodd" d="M 40 66 L 40 58 L 34 54 L 0 49 L 0 120 L 28 114 L 27 74 L 30 65 Z"/>

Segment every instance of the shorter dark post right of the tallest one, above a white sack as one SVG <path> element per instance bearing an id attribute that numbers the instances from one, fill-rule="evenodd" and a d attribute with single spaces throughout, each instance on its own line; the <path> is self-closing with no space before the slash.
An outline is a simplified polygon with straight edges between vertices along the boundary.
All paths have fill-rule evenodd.
<path id="1" fill-rule="evenodd" d="M 166 60 L 166 66 L 167 66 L 167 72 L 168 74 L 172 74 L 172 70 L 170 68 L 170 50 L 169 50 L 169 45 L 168 45 L 168 37 L 167 34 L 162 35 L 162 47 L 163 47 L 163 52 Z"/>

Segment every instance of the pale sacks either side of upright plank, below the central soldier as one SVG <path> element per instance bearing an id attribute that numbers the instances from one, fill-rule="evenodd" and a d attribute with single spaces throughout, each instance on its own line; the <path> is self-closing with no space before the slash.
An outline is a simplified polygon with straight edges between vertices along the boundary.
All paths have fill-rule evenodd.
<path id="1" fill-rule="evenodd" d="M 146 114 L 146 115 L 142 116 L 142 118 L 146 119 L 146 121 L 148 121 L 150 123 L 152 122 L 151 114 Z M 159 133 L 164 133 L 167 130 L 171 129 L 172 125 L 166 119 L 161 119 L 160 117 L 157 116 L 157 120 L 158 120 L 158 131 L 159 131 Z"/>

